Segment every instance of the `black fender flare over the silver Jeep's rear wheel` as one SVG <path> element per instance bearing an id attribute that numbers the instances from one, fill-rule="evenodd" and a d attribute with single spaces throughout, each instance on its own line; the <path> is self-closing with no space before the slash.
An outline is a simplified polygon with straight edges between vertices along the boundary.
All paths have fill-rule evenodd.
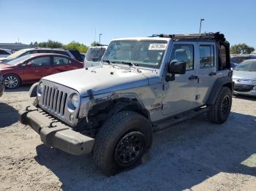
<path id="1" fill-rule="evenodd" d="M 220 90 L 222 90 L 222 87 L 230 87 L 230 90 L 233 93 L 234 89 L 234 82 L 230 77 L 220 77 L 216 80 L 214 83 L 213 88 L 211 89 L 211 93 L 208 96 L 208 99 L 206 101 L 206 105 L 212 105 L 215 103 L 217 96 L 219 95 Z"/>

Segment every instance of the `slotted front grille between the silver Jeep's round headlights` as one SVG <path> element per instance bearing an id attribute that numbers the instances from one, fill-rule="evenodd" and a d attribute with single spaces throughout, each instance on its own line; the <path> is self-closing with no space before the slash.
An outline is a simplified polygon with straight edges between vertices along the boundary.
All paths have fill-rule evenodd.
<path id="1" fill-rule="evenodd" d="M 60 115 L 65 114 L 67 93 L 56 90 L 54 87 L 44 86 L 42 93 L 42 106 Z"/>

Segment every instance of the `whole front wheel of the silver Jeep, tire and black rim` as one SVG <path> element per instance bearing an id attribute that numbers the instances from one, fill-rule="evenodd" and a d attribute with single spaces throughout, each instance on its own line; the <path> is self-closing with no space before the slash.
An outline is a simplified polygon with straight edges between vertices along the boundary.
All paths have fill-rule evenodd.
<path id="1" fill-rule="evenodd" d="M 151 123 L 136 112 L 118 112 L 108 119 L 95 139 L 94 163 L 107 176 L 138 165 L 151 148 Z"/>

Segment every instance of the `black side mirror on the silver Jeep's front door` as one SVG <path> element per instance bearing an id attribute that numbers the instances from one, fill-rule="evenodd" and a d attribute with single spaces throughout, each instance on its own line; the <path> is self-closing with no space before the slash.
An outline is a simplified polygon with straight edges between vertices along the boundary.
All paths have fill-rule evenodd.
<path id="1" fill-rule="evenodd" d="M 167 82 L 175 80 L 175 74 L 185 74 L 186 73 L 186 68 L 187 68 L 187 63 L 186 62 L 176 62 L 172 61 L 168 65 L 168 73 L 171 74 L 167 75 L 165 77 L 165 80 Z"/>

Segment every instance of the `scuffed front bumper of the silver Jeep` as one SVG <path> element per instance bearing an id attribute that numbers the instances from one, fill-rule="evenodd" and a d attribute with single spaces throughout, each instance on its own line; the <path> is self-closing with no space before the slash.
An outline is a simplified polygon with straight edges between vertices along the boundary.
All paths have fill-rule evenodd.
<path id="1" fill-rule="evenodd" d="M 50 147 L 56 147 L 72 155 L 89 154 L 94 147 L 93 138 L 72 130 L 42 109 L 27 106 L 19 113 L 20 122 L 30 125 L 40 135 L 42 142 Z"/>

